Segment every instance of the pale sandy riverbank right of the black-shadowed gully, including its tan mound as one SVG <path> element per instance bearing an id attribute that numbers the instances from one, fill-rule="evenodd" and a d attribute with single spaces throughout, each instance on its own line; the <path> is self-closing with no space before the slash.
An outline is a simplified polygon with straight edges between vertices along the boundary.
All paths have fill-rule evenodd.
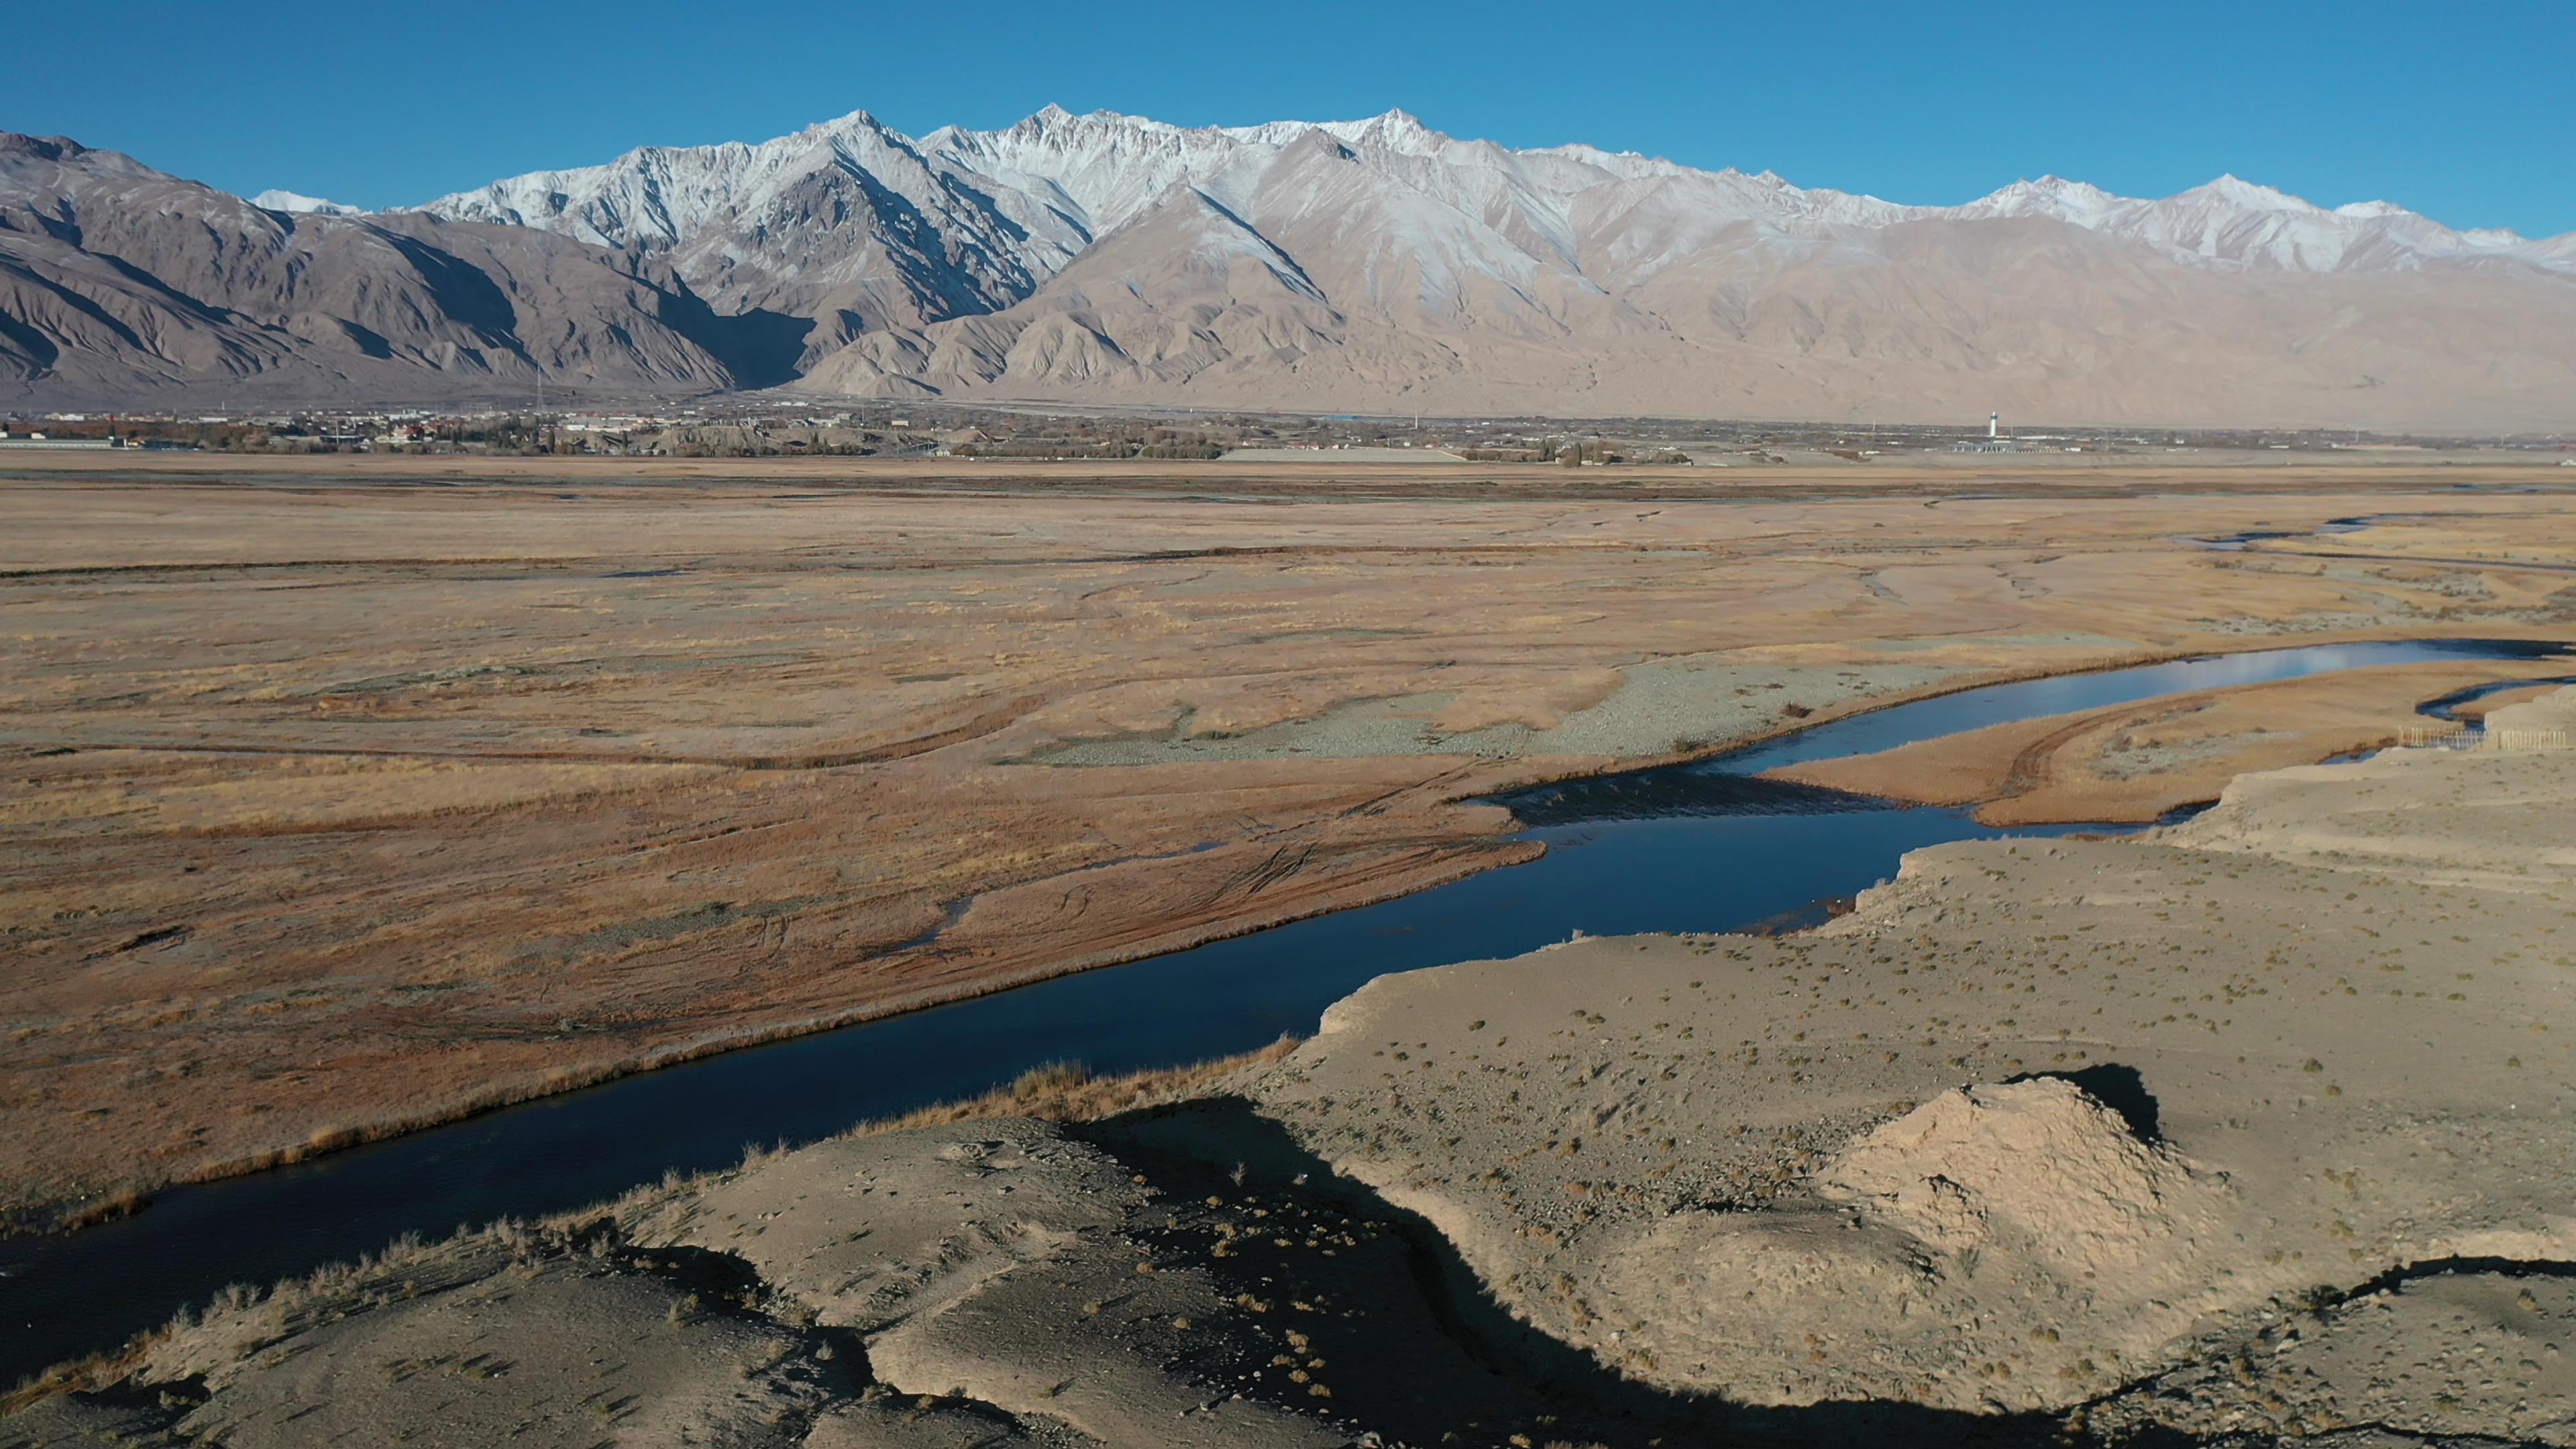
<path id="1" fill-rule="evenodd" d="M 1806 938 L 1383 977 L 1260 1098 L 1515 1318 L 1672 1392 L 2524 1439 L 2576 1379 L 2486 1385 L 2470 1428 L 2427 1359 L 2326 1385 L 2277 1346 L 2380 1333 L 2295 1305 L 2383 1274 L 2576 1245 L 2568 761 L 2259 773 L 2141 841 L 1919 851 Z M 2555 1361 L 2540 1310 L 2476 1333 Z M 2202 1385 L 2233 1343 L 2264 1369 Z"/>

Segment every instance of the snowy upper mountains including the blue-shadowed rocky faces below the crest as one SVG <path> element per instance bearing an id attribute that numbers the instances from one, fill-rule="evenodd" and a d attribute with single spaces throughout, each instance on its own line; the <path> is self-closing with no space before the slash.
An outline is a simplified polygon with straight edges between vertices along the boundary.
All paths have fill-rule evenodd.
<path id="1" fill-rule="evenodd" d="M 917 325 L 1020 302 L 1175 199 L 1236 222 L 1314 219 L 1347 188 L 1334 168 L 1306 165 L 1316 147 L 1368 175 L 1370 201 L 1394 222 L 1383 242 L 1432 289 L 1540 273 L 1615 289 L 1685 263 L 1721 232 L 1850 245 L 1901 224 L 2007 217 L 2048 217 L 2210 268 L 2576 271 L 2576 237 L 2455 232 L 2388 201 L 2324 209 L 2233 175 L 2161 201 L 2050 175 L 1965 206 L 1901 206 L 1636 152 L 1463 142 L 1404 111 L 1193 129 L 1048 106 L 1010 129 L 940 126 L 920 139 L 853 111 L 760 144 L 641 147 L 608 165 L 515 175 L 415 211 L 667 250 L 690 281 L 747 304 L 855 304 L 868 325 Z"/>

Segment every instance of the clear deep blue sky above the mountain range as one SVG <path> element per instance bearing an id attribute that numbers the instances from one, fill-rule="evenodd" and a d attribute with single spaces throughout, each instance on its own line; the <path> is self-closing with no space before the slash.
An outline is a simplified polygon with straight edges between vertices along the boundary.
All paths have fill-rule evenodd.
<path id="1" fill-rule="evenodd" d="M 2329 206 L 2576 229 L 2576 0 L 26 0 L 8 49 L 0 129 L 368 206 L 855 108 L 920 134 L 1054 101 L 1180 124 L 1401 106 L 1463 137 L 1896 201 L 2236 173 Z"/>

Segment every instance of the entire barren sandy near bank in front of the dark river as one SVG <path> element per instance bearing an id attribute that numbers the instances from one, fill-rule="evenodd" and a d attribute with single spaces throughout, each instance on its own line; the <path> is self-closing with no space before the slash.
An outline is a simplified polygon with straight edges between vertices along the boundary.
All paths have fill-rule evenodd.
<path id="1" fill-rule="evenodd" d="M 2571 920 L 2576 755 L 2244 776 L 1808 936 L 1381 977 L 1113 1119 L 404 1245 L 0 1444 L 2576 1444 Z"/>

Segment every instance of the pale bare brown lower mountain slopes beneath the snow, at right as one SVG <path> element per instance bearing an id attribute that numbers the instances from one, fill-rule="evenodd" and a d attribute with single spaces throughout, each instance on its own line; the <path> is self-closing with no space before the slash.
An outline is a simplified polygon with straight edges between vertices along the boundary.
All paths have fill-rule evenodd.
<path id="1" fill-rule="evenodd" d="M 1144 227 L 1028 302 L 871 340 L 799 387 L 1066 402 L 1430 413 L 1937 420 L 1991 407 L 2105 423 L 2537 431 L 2576 418 L 2576 281 L 2519 266 L 2213 271 L 2045 217 L 1901 222 L 1783 245 L 1749 224 L 1623 268 L 1437 276 L 1394 224 L 1332 206 L 1262 227 L 1329 307 L 1213 273 Z M 1625 276 L 1623 276 L 1625 271 Z M 1115 273 L 1121 286 L 1100 286 Z M 1216 289 L 1218 276 L 1226 289 Z M 1226 327 L 1154 364 L 1123 338 L 1190 297 Z M 1066 327 L 1092 338 L 1072 338 Z M 1280 338 L 1288 345 L 1280 345 Z M 969 343 L 971 338 L 971 343 Z M 1115 343 L 1105 345 L 1105 343 Z M 940 366 L 925 358 L 940 356 Z"/>

